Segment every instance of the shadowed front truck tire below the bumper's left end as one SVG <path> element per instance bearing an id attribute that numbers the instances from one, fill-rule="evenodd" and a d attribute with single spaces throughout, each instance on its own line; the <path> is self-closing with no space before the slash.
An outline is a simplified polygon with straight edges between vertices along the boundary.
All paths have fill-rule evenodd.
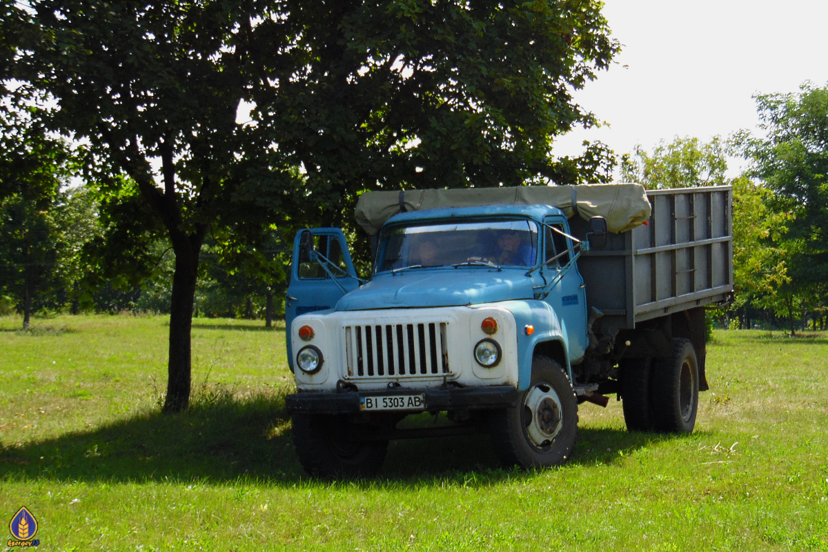
<path id="1" fill-rule="evenodd" d="M 344 415 L 294 414 L 293 444 L 302 468 L 318 478 L 366 478 L 385 460 L 388 440 L 360 440 Z"/>

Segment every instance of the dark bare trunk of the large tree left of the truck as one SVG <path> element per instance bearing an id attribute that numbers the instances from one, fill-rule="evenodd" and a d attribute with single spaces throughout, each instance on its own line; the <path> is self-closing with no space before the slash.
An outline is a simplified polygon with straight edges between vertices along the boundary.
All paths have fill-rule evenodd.
<path id="1" fill-rule="evenodd" d="M 194 241 L 198 243 L 193 243 Z M 173 238 L 176 271 L 172 276 L 170 358 L 163 409 L 166 414 L 181 412 L 190 406 L 190 330 L 193 325 L 200 248 L 197 238 L 183 235 Z"/>

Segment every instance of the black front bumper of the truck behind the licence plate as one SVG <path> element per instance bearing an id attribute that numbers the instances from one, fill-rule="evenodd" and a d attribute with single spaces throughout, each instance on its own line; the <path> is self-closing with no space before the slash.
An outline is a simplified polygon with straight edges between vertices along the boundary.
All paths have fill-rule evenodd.
<path id="1" fill-rule="evenodd" d="M 352 414 L 360 412 L 359 397 L 423 395 L 423 411 L 495 410 L 517 403 L 520 393 L 513 386 L 463 387 L 424 391 L 306 391 L 286 397 L 291 414 Z M 388 411 L 388 410 L 386 410 Z M 399 410 L 414 413 L 417 410 Z"/>

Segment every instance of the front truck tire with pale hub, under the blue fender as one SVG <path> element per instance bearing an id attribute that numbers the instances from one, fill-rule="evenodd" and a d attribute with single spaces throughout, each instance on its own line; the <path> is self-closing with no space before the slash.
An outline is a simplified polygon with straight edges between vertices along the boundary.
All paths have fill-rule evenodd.
<path id="1" fill-rule="evenodd" d="M 561 365 L 532 360 L 532 383 L 515 406 L 493 412 L 490 432 L 506 467 L 544 468 L 565 463 L 575 447 L 578 401 Z"/>

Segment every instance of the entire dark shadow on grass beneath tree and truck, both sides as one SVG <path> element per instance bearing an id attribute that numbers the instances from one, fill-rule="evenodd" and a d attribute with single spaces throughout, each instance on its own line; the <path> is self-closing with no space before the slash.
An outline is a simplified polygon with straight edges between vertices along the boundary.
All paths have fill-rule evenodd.
<path id="1" fill-rule="evenodd" d="M 579 430 L 567 468 L 623 461 L 638 449 L 675 437 L 609 429 Z M 619 453 L 623 453 L 619 454 Z M 392 441 L 379 478 L 365 486 L 485 487 L 532 472 L 499 467 L 485 434 Z M 97 430 L 0 447 L 0 480 L 231 482 L 251 478 L 291 486 L 307 476 L 293 449 L 284 398 L 213 398 L 178 415 L 147 413 Z M 349 483 L 354 484 L 354 483 Z"/>

